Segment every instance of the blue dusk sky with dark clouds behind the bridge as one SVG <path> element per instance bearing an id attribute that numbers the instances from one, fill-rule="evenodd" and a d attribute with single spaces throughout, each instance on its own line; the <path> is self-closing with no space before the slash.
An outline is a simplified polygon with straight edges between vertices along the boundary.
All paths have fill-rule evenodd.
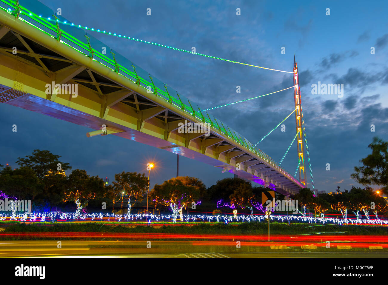
<path id="1" fill-rule="evenodd" d="M 74 24 L 247 64 L 291 71 L 294 52 L 315 188 L 334 191 L 355 183 L 350 174 L 370 153 L 374 136 L 388 140 L 388 2 L 374 1 L 79 1 L 41 0 Z M 147 16 L 151 8 L 151 16 Z M 236 9 L 241 15 L 236 15 Z M 326 15 L 326 9 L 330 15 Z M 76 28 L 74 28 L 76 29 Z M 90 32 L 93 33 L 93 32 Z M 292 74 L 269 71 L 93 33 L 96 38 L 196 102 L 201 109 L 260 96 L 293 85 Z M 282 47 L 286 53 L 281 54 Z M 371 48 L 375 53 L 371 54 Z M 312 84 L 343 84 L 343 97 L 312 94 Z M 236 93 L 241 86 L 241 93 Z M 293 89 L 209 113 L 255 144 L 294 110 Z M 114 180 L 121 171 L 146 172 L 151 186 L 176 175 L 177 156 L 8 104 L 0 104 L 0 164 L 34 149 L 61 155 L 73 169 Z M 12 132 L 12 125 L 17 132 Z M 295 131 L 294 116 L 257 145 L 280 162 Z M 371 125 L 375 131 L 371 131 Z M 326 171 L 326 164 L 330 171 Z M 294 174 L 296 143 L 282 162 Z M 210 187 L 232 177 L 180 157 L 181 176 Z M 310 185 L 310 173 L 307 181 Z"/>

